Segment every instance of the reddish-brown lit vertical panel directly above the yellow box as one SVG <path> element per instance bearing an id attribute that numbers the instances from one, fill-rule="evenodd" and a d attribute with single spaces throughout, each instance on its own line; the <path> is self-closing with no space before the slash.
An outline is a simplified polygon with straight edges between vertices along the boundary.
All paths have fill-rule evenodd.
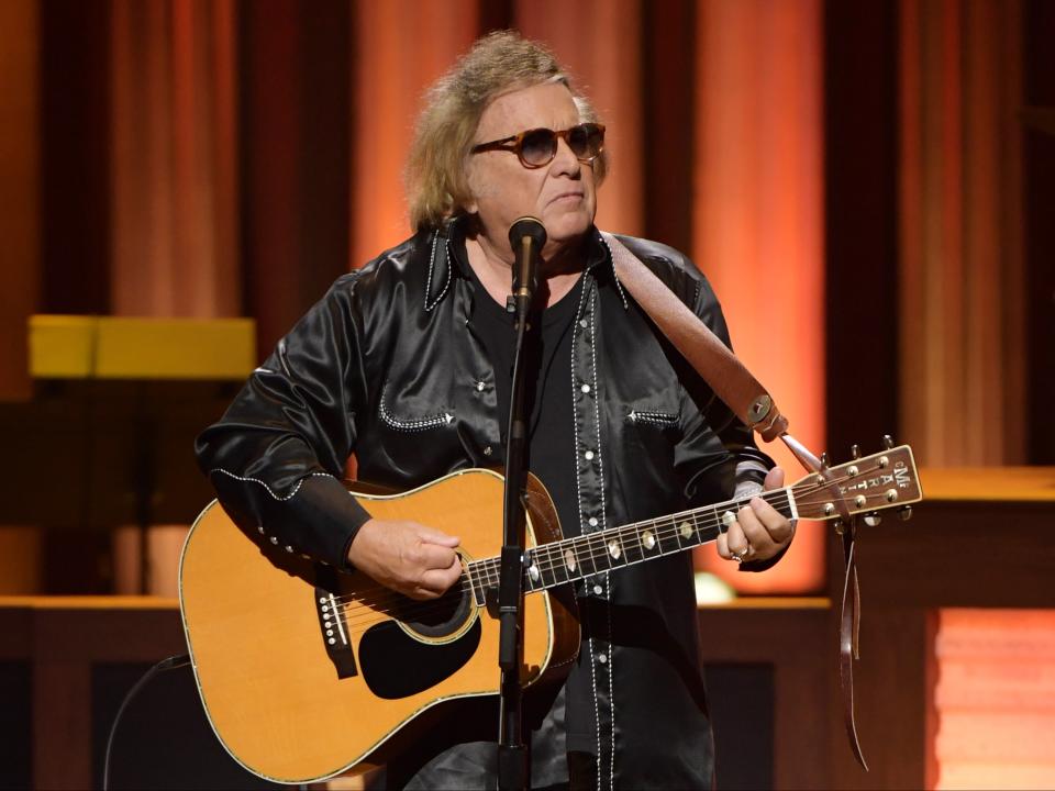
<path id="1" fill-rule="evenodd" d="M 112 303 L 237 315 L 233 0 L 113 0 Z"/>

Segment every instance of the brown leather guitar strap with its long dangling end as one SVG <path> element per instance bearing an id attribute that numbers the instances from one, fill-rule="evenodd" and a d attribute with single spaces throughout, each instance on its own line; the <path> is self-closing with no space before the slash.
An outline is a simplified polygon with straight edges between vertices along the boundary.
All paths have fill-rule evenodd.
<path id="1" fill-rule="evenodd" d="M 711 387 L 744 424 L 766 442 L 779 437 L 810 472 L 828 483 L 840 516 L 839 532 L 843 541 L 842 612 L 840 615 L 840 682 L 843 690 L 843 717 L 846 736 L 857 761 L 868 770 L 857 739 L 854 721 L 854 659 L 859 658 L 860 591 L 857 587 L 857 561 L 854 552 L 856 517 L 849 515 L 846 502 L 834 483 L 826 465 L 788 433 L 788 421 L 780 414 L 773 398 L 752 376 L 743 363 L 700 321 L 673 291 L 612 234 L 601 236 L 612 254 L 612 266 L 620 283 L 630 292 L 648 317 L 667 336 L 674 347 Z"/>

